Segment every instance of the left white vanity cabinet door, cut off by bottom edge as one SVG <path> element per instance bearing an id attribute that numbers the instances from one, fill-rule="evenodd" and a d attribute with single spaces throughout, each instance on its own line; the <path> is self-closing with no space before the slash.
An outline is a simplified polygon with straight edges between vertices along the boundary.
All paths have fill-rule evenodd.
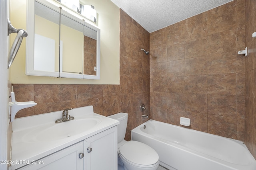
<path id="1" fill-rule="evenodd" d="M 22 170 L 83 170 L 84 157 L 79 158 L 79 154 L 84 153 L 83 141 L 70 147 L 62 149 L 54 154 L 46 156 L 34 164 L 21 168 Z M 82 156 L 80 156 L 82 157 Z"/>

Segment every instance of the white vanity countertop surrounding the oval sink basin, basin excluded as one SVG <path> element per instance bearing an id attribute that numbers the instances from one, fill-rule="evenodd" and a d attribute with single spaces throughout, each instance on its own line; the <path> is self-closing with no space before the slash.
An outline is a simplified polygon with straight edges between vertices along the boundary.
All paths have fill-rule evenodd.
<path id="1" fill-rule="evenodd" d="M 75 108 L 69 111 L 68 114 L 74 116 L 75 119 L 88 117 L 92 119 L 101 119 L 101 121 L 93 128 L 85 129 L 82 133 L 77 135 L 71 135 L 70 137 L 58 140 L 45 139 L 44 141 L 36 141 L 34 140 L 34 137 L 38 136 L 38 131 L 40 131 L 40 129 L 45 129 L 47 126 L 54 125 L 56 119 L 62 118 L 62 111 L 15 119 L 13 122 L 12 135 L 12 164 L 9 169 L 15 170 L 25 166 L 26 161 L 36 161 L 119 124 L 119 121 L 117 120 L 94 113 L 93 106 Z M 16 162 L 22 163 L 17 164 Z"/>

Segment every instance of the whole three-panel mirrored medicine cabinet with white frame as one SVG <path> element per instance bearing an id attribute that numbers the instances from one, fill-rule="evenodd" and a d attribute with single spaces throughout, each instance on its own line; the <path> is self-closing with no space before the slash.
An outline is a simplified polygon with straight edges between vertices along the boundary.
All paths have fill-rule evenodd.
<path id="1" fill-rule="evenodd" d="M 45 0 L 28 0 L 26 75 L 100 79 L 100 29 Z"/>

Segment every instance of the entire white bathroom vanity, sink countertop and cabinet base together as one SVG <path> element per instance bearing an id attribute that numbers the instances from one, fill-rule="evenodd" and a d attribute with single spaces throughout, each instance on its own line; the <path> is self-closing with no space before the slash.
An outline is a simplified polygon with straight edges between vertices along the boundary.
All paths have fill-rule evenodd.
<path id="1" fill-rule="evenodd" d="M 62 112 L 14 119 L 9 170 L 117 170 L 119 121 L 85 106 L 55 123 Z"/>

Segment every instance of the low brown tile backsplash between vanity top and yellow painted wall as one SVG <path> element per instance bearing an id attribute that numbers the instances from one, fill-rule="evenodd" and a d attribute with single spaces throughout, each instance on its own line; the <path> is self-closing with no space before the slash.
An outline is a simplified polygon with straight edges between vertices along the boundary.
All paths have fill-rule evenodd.
<path id="1" fill-rule="evenodd" d="M 17 117 L 49 113 L 82 106 L 94 106 L 94 112 L 112 115 L 120 109 L 119 85 L 13 84 L 17 101 L 34 101 L 36 106 L 20 110 Z M 24 93 L 25 92 L 25 93 Z"/>

